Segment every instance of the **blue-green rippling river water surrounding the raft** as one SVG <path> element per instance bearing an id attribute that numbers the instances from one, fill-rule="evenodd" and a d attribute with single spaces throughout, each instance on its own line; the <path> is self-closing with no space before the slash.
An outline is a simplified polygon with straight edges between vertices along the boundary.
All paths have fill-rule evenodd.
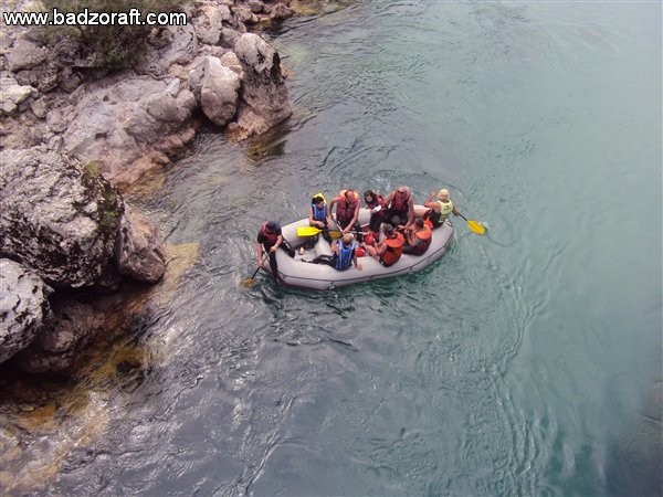
<path id="1" fill-rule="evenodd" d="M 367 0 L 271 33 L 294 116 L 259 144 L 204 130 L 144 201 L 199 260 L 50 491 L 661 494 L 661 22 Z M 487 234 L 454 219 L 408 277 L 243 287 L 264 219 L 400 183 Z"/>

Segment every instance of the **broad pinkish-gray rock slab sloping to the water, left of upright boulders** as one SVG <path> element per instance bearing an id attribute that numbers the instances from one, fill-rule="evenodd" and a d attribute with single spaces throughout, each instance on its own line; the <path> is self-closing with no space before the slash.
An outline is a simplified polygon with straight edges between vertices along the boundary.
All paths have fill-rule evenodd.
<path id="1" fill-rule="evenodd" d="M 189 118 L 196 98 L 173 81 L 116 75 L 81 86 L 71 99 L 76 102 L 72 112 L 46 117 L 51 128 L 66 128 L 62 151 L 83 162 L 98 161 L 103 175 L 119 187 L 167 163 L 164 154 L 193 137 Z"/>

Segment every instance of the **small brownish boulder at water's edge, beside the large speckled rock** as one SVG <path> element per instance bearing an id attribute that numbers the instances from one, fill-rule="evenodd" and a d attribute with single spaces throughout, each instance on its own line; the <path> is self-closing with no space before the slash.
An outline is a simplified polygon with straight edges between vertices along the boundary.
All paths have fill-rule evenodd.
<path id="1" fill-rule="evenodd" d="M 143 214 L 125 205 L 115 246 L 122 275 L 157 283 L 166 271 L 166 252 L 157 229 Z"/>

